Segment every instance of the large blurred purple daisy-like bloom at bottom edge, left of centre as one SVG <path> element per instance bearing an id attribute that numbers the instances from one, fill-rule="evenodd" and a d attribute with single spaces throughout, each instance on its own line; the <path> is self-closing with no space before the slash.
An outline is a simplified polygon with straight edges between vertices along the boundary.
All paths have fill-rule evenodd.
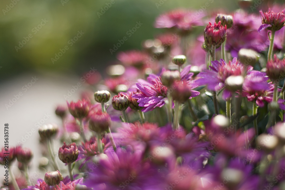
<path id="1" fill-rule="evenodd" d="M 117 148 L 106 152 L 93 172 L 89 172 L 84 185 L 93 189 L 153 189 L 161 190 L 161 177 L 157 169 L 143 162 L 140 150 L 133 152 Z M 92 166 L 90 166 L 93 168 Z"/>

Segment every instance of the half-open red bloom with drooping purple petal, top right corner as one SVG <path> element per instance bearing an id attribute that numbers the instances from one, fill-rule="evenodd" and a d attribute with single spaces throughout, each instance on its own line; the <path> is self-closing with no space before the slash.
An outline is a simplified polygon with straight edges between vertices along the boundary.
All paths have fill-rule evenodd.
<path id="1" fill-rule="evenodd" d="M 258 32 L 264 30 L 267 28 L 271 31 L 277 31 L 280 30 L 284 24 L 285 24 L 285 9 L 282 10 L 279 13 L 274 13 L 270 9 L 266 13 L 263 13 L 262 11 L 259 11 L 262 25 L 258 28 Z"/>

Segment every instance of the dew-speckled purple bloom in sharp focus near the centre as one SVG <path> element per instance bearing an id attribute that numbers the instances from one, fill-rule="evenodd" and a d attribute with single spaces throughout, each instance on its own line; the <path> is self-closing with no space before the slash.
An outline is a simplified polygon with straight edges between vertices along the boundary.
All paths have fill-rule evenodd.
<path id="1" fill-rule="evenodd" d="M 139 79 L 136 83 L 142 93 L 134 94 L 132 97 L 138 99 L 139 106 L 144 107 L 143 112 L 151 111 L 156 107 L 162 107 L 165 104 L 167 96 L 167 87 L 162 85 L 161 77 L 150 74 L 148 81 Z"/>

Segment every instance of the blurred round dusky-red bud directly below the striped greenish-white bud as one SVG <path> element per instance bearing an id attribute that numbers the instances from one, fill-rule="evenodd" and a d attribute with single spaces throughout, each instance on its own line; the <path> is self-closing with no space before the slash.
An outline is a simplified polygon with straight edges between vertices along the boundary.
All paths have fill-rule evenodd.
<path id="1" fill-rule="evenodd" d="M 111 123 L 111 117 L 107 113 L 97 112 L 90 116 L 89 129 L 96 133 L 108 130 Z"/>

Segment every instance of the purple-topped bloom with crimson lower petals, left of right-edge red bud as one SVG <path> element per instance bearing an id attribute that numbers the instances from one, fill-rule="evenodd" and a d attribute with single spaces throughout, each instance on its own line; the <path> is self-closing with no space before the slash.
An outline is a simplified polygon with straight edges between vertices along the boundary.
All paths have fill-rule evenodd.
<path id="1" fill-rule="evenodd" d="M 266 73 L 251 71 L 245 77 L 243 83 L 242 96 L 247 97 L 248 101 L 254 101 L 259 107 L 264 106 L 264 101 L 270 103 L 273 99 L 274 84 L 267 83 Z M 278 89 L 281 91 L 281 89 Z M 278 99 L 280 109 L 285 109 L 284 100 Z"/>

